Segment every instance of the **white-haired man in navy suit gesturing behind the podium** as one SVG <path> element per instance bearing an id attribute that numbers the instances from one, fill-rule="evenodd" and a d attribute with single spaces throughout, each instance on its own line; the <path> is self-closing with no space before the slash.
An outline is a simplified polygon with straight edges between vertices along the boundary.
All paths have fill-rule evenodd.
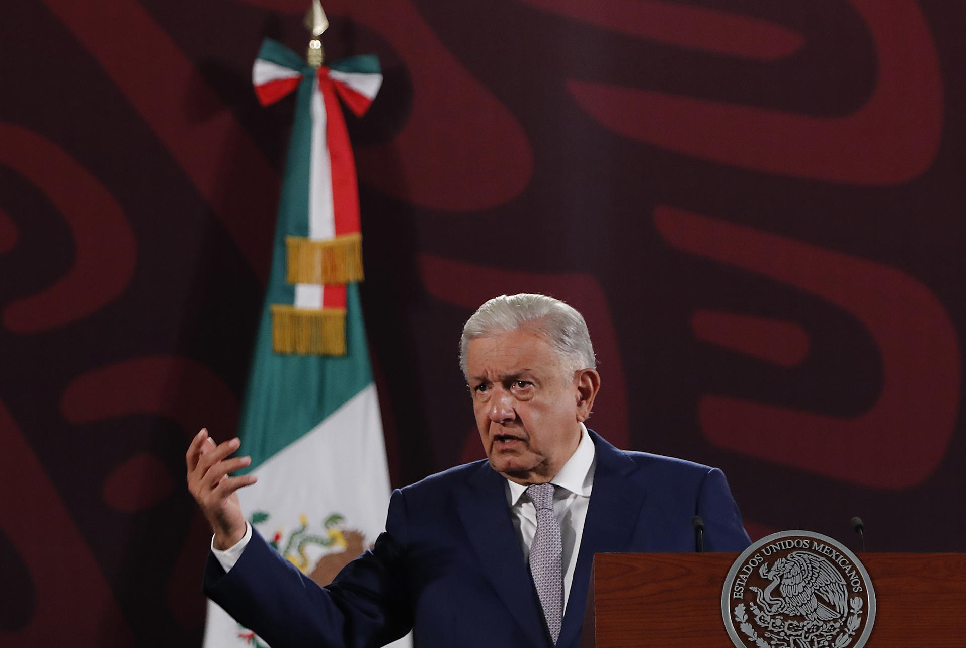
<path id="1" fill-rule="evenodd" d="M 205 591 L 272 648 L 580 643 L 593 554 L 749 544 L 717 468 L 614 448 L 583 421 L 600 387 L 580 313 L 552 297 L 499 296 L 463 330 L 461 362 L 487 461 L 392 493 L 375 547 L 323 588 L 241 515 L 239 440 L 202 431 L 188 486 L 214 531 Z"/>

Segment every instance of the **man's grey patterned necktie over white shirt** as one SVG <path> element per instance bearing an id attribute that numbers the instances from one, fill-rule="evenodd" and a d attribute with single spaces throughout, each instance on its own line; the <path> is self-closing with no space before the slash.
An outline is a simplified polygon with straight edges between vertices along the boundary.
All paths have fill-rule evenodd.
<path id="1" fill-rule="evenodd" d="M 537 532 L 530 545 L 530 577 L 537 588 L 544 621 L 555 644 L 563 619 L 563 571 L 560 567 L 560 522 L 554 515 L 554 485 L 527 486 L 526 496 L 537 509 Z"/>

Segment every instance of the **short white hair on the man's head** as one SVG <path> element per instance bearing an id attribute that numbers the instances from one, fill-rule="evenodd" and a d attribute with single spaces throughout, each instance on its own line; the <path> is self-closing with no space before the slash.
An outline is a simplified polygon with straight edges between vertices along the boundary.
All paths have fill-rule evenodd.
<path id="1" fill-rule="evenodd" d="M 480 306 L 463 326 L 460 367 L 467 377 L 469 342 L 521 328 L 529 328 L 556 349 L 570 376 L 581 369 L 596 369 L 597 358 L 583 316 L 572 306 L 546 295 L 501 295 Z M 570 378 L 568 376 L 568 379 Z"/>

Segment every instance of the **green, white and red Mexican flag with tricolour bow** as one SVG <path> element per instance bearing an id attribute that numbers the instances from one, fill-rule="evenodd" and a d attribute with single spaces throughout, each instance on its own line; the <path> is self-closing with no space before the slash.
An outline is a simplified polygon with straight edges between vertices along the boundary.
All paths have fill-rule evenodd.
<path id="1" fill-rule="evenodd" d="M 240 454 L 251 456 L 258 482 L 239 496 L 253 527 L 325 585 L 375 542 L 389 502 L 355 284 L 362 277 L 355 163 L 340 106 L 341 99 L 365 112 L 382 74 L 374 56 L 315 69 L 266 41 L 252 76 L 263 104 L 296 91 L 297 106 L 241 412 Z M 209 602 L 206 648 L 266 645 Z"/>

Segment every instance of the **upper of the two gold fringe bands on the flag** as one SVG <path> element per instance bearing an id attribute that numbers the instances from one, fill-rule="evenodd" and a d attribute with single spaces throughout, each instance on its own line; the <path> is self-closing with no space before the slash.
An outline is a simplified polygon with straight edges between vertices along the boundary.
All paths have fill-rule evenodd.
<path id="1" fill-rule="evenodd" d="M 346 284 L 362 281 L 362 235 L 328 240 L 286 237 L 290 284 Z"/>

